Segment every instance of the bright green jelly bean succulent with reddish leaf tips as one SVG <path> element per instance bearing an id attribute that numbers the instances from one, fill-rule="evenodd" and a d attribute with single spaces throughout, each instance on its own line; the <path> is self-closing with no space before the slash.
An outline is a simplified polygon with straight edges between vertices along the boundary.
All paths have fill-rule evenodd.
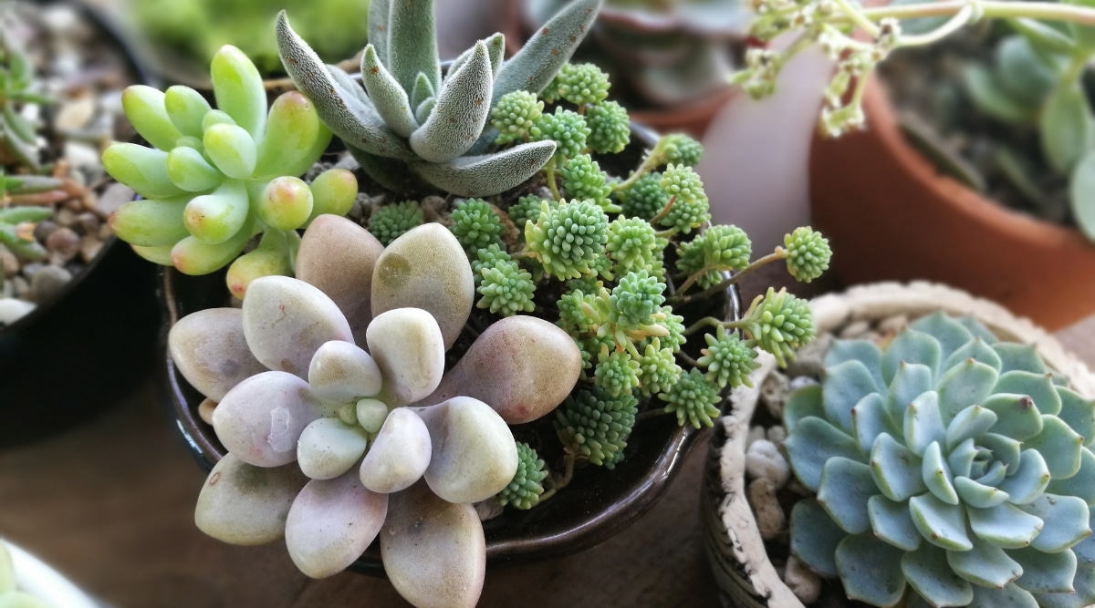
<path id="1" fill-rule="evenodd" d="M 283 94 L 267 114 L 258 71 L 231 46 L 214 56 L 210 73 L 219 109 L 187 86 L 126 89 L 126 116 L 151 145 L 104 151 L 111 176 L 142 197 L 111 225 L 141 257 L 187 274 L 231 265 L 229 289 L 242 297 L 254 278 L 291 273 L 297 230 L 321 213 L 346 213 L 357 179 L 342 168 L 311 184 L 298 177 L 331 140 L 303 95 Z M 240 256 L 255 235 L 257 247 Z"/>

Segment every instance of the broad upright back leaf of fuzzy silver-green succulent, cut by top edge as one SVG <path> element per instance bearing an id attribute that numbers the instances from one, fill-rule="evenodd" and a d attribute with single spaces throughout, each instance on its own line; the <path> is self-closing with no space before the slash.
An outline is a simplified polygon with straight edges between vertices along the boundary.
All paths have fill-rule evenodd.
<path id="1" fill-rule="evenodd" d="M 414 89 L 419 73 L 435 90 L 441 87 L 441 63 L 437 55 L 434 1 L 391 2 L 388 13 L 388 60 L 385 65 L 404 91 Z"/>

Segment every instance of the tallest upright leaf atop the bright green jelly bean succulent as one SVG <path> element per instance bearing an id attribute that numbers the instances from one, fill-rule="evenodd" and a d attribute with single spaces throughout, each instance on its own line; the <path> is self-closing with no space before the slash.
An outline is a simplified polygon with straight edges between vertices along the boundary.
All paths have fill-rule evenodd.
<path id="1" fill-rule="evenodd" d="M 266 127 L 266 87 L 251 59 L 234 46 L 224 45 L 212 57 L 209 77 L 217 107 L 251 137 L 262 139 Z"/>

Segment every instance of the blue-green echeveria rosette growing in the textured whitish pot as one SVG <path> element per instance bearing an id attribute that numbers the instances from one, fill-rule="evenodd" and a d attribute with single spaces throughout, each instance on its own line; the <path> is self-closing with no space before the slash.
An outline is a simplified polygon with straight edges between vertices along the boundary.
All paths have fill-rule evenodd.
<path id="1" fill-rule="evenodd" d="M 876 606 L 1095 601 L 1095 402 L 1034 347 L 935 314 L 825 365 L 784 410 L 799 560 Z"/>

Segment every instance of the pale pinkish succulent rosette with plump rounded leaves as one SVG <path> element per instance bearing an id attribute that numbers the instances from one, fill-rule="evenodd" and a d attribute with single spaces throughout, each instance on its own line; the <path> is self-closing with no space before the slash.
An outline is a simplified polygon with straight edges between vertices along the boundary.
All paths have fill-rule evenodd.
<path id="1" fill-rule="evenodd" d="M 237 545 L 284 536 L 314 577 L 343 571 L 379 535 L 408 601 L 474 606 L 486 548 L 472 503 L 512 479 L 508 423 L 563 401 L 577 347 L 543 319 L 508 317 L 446 373 L 474 281 L 439 224 L 384 248 L 322 215 L 297 277 L 257 279 L 242 309 L 199 311 L 171 330 L 171 356 L 218 402 L 212 425 L 229 451 L 198 498 L 198 527 Z"/>

